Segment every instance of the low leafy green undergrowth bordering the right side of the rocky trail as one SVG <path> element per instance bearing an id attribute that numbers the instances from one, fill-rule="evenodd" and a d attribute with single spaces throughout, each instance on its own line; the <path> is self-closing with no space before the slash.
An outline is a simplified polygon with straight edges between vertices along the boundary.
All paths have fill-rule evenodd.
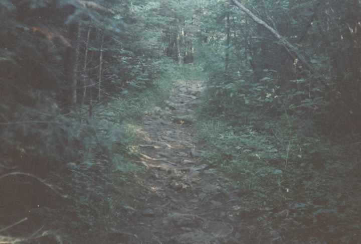
<path id="1" fill-rule="evenodd" d="M 292 114 L 287 99 L 268 105 L 280 98 L 267 91 L 242 91 L 246 103 L 232 99 L 244 81 L 238 88 L 212 82 L 197 132 L 209 147 L 204 159 L 219 169 L 215 177 L 259 206 L 264 227 L 279 231 L 280 243 L 358 243 L 359 135 L 325 135 L 313 119 Z"/>

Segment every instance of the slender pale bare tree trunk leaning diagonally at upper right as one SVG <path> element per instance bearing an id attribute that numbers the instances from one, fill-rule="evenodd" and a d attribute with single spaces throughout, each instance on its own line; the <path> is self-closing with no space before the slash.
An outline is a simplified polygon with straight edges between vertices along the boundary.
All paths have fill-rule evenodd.
<path id="1" fill-rule="evenodd" d="M 244 12 L 248 17 L 250 17 L 254 22 L 257 24 L 263 26 L 266 28 L 280 43 L 281 45 L 286 49 L 287 53 L 295 59 L 295 57 L 304 65 L 304 67 L 310 71 L 311 73 L 315 74 L 319 77 L 319 80 L 322 82 L 322 84 L 328 88 L 327 82 L 320 78 L 321 76 L 318 74 L 318 72 L 307 62 L 307 60 L 303 57 L 302 54 L 300 54 L 297 49 L 289 43 L 284 37 L 282 37 L 275 29 L 267 25 L 263 20 L 255 16 L 251 11 L 249 11 L 246 7 L 244 7 L 240 2 L 237 0 L 231 0 L 233 4 L 235 4 L 242 12 Z"/>

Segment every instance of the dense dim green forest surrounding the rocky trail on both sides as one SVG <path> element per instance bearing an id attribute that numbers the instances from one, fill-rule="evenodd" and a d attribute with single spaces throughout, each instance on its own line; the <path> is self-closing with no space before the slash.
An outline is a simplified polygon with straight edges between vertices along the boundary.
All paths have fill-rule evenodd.
<path id="1" fill-rule="evenodd" d="M 359 242 L 359 0 L 3 0 L 0 26 L 2 243 L 95 228 L 114 172 L 135 187 L 141 115 L 192 74 L 203 158 L 265 228 Z"/>

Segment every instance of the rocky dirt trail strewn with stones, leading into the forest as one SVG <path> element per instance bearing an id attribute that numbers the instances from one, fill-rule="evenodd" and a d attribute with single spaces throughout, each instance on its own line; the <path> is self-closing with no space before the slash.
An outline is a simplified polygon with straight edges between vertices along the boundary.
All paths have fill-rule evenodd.
<path id="1" fill-rule="evenodd" d="M 259 209 L 242 192 L 221 189 L 214 168 L 202 162 L 204 145 L 195 137 L 195 110 L 202 81 L 174 84 L 165 109 L 144 117 L 140 163 L 147 174 L 131 227 L 117 231 L 116 243 L 272 243 Z M 257 220 L 258 219 L 258 220 Z M 267 231 L 268 232 L 268 231 Z M 267 240 L 267 241 L 265 241 Z"/>

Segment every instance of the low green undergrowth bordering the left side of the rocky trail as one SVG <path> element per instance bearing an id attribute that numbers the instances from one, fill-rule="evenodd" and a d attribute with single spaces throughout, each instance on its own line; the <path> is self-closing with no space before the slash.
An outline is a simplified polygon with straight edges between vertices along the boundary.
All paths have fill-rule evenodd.
<path id="1" fill-rule="evenodd" d="M 142 114 L 165 106 L 182 77 L 182 69 L 168 69 L 151 86 L 97 104 L 92 117 L 64 113 L 49 97 L 32 110 L 17 107 L 9 119 L 22 122 L 0 128 L 0 241 L 94 243 L 130 221 L 141 205 L 134 161 Z"/>

